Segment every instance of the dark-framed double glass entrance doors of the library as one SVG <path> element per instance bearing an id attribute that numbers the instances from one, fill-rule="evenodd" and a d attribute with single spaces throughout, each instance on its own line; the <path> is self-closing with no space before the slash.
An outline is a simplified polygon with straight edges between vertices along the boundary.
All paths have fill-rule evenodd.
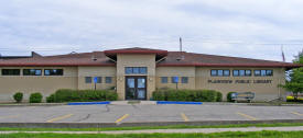
<path id="1" fill-rule="evenodd" d="M 126 77 L 126 100 L 147 100 L 147 77 Z"/>

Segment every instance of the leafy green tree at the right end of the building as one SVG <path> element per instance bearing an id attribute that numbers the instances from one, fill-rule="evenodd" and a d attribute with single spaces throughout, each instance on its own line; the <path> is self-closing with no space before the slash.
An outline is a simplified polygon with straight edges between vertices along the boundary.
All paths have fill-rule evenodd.
<path id="1" fill-rule="evenodd" d="M 294 64 L 303 64 L 303 49 L 294 58 Z M 297 101 L 299 93 L 303 92 L 303 67 L 292 69 L 285 84 L 281 87 L 293 92 L 294 101 Z"/>

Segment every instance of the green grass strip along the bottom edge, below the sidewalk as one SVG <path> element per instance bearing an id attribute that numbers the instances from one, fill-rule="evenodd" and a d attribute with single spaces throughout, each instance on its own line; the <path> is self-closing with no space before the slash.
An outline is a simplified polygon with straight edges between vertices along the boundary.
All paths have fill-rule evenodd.
<path id="1" fill-rule="evenodd" d="M 214 134 L 126 134 L 126 135 L 67 135 L 67 134 L 0 134 L 0 138 L 302 138 L 303 131 L 227 131 Z"/>

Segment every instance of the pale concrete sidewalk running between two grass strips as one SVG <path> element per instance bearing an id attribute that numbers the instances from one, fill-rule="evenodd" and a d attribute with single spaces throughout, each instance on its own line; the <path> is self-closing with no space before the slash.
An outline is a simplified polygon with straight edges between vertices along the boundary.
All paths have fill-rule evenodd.
<path id="1" fill-rule="evenodd" d="M 0 134 L 193 134 L 193 133 L 224 133 L 224 131 L 261 131 L 261 130 L 277 130 L 277 131 L 301 131 L 303 126 L 294 127 L 242 127 L 242 128 L 192 128 L 192 129 L 147 129 L 147 130 L 110 130 L 110 131 L 0 131 Z"/>

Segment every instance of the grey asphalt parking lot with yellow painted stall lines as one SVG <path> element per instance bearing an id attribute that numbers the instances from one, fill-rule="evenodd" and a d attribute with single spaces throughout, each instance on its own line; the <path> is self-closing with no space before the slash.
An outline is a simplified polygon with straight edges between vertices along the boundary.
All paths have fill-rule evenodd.
<path id="1" fill-rule="evenodd" d="M 0 107 L 0 123 L 136 123 L 303 119 L 302 106 L 59 105 Z"/>

